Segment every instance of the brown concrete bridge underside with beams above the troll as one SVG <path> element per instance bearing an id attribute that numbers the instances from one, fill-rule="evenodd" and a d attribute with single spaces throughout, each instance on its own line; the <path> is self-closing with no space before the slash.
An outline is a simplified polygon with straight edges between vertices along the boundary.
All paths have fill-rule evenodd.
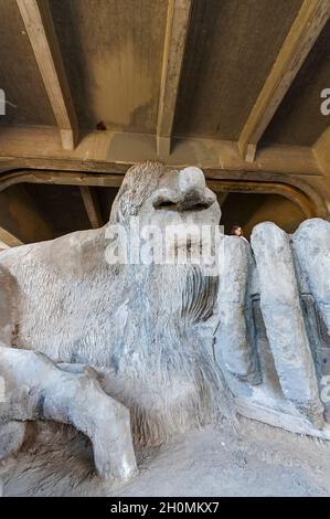
<path id="1" fill-rule="evenodd" d="M 225 227 L 329 219 L 330 2 L 273 3 L 2 1 L 0 248 L 103 225 L 141 160 L 201 167 Z"/>

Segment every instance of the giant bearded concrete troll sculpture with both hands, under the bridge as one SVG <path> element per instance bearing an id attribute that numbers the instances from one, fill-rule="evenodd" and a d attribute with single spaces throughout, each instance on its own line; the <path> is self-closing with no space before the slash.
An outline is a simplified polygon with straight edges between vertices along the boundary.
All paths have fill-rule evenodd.
<path id="1" fill-rule="evenodd" d="M 260 224 L 252 247 L 220 234 L 214 272 L 194 258 L 198 231 L 220 218 L 201 170 L 146 162 L 105 227 L 0 254 L 0 458 L 26 420 L 73 424 L 99 475 L 117 479 L 136 473 L 132 441 L 160 444 L 232 411 L 330 438 L 330 223 L 294 236 Z"/>

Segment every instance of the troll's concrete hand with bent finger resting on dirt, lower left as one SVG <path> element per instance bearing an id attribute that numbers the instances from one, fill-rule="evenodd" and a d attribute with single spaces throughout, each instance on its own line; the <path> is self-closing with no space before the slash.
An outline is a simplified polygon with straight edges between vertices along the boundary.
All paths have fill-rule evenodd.
<path id="1" fill-rule="evenodd" d="M 70 372 L 40 352 L 0 345 L 0 377 L 6 382 L 0 459 L 22 444 L 15 422 L 51 420 L 73 424 L 89 437 L 99 477 L 124 481 L 136 474 L 129 412 L 104 393 L 91 368 Z"/>

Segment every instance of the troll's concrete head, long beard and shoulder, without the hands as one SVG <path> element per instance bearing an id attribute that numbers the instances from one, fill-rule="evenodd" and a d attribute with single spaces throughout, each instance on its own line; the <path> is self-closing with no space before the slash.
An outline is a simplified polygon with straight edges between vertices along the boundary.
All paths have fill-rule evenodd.
<path id="1" fill-rule="evenodd" d="M 170 209 L 159 209 L 160 195 Z M 182 172 L 145 163 L 128 171 L 110 223 L 216 224 L 215 200 L 200 170 L 184 181 Z M 217 280 L 191 264 L 108 265 L 117 243 L 107 229 L 1 254 L 19 287 L 12 345 L 94 367 L 106 392 L 130 410 L 135 442 L 159 444 L 224 409 L 221 372 L 194 332 L 212 314 Z"/>

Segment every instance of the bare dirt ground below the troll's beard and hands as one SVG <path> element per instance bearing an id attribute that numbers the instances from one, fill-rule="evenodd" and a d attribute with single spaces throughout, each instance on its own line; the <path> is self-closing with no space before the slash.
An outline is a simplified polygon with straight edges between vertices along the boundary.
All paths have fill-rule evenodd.
<path id="1" fill-rule="evenodd" d="M 51 434 L 51 436 L 50 436 Z M 70 428 L 42 432 L 0 468 L 4 496 L 329 496 L 330 443 L 239 420 L 137 452 L 121 487 L 93 473 L 91 444 Z"/>

